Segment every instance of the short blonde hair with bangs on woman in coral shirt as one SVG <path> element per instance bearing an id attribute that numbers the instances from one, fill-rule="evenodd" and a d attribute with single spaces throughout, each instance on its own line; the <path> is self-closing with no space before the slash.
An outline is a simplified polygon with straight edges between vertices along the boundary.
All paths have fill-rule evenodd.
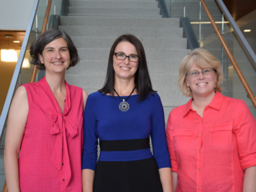
<path id="1" fill-rule="evenodd" d="M 201 68 L 202 70 L 204 68 L 214 68 L 214 72 L 217 76 L 215 91 L 221 92 L 223 90 L 223 88 L 221 87 L 221 83 L 223 81 L 223 73 L 220 61 L 218 61 L 216 57 L 211 54 L 211 52 L 205 49 L 197 48 L 191 51 L 187 56 L 185 56 L 180 63 L 178 85 L 183 95 L 186 95 L 187 97 L 193 97 L 192 92 L 190 88 L 188 89 L 186 83 L 186 76 L 193 64 L 195 64 L 196 67 Z"/>

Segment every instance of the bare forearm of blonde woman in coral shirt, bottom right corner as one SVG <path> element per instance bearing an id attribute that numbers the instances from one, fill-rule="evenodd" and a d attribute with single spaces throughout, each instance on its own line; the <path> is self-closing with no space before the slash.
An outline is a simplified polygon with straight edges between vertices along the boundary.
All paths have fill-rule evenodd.
<path id="1" fill-rule="evenodd" d="M 256 191 L 256 166 L 244 170 L 243 192 Z"/>

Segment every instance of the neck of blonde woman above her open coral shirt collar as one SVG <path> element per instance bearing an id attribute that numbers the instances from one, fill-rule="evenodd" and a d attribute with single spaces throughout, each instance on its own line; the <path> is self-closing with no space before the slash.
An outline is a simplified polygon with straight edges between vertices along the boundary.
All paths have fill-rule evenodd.
<path id="1" fill-rule="evenodd" d="M 212 102 L 214 95 L 215 95 L 215 92 L 212 92 L 207 97 L 200 97 L 197 95 L 195 95 L 195 96 L 193 95 L 191 107 L 193 109 L 204 109 L 206 106 L 208 106 Z"/>

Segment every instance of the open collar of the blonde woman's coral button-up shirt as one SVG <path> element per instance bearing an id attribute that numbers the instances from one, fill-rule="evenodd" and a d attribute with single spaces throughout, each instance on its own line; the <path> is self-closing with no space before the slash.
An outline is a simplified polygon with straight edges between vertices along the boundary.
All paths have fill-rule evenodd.
<path id="1" fill-rule="evenodd" d="M 221 106 L 221 103 L 222 103 L 222 100 L 223 100 L 223 95 L 220 93 L 220 92 L 216 92 L 211 103 L 209 104 L 209 107 L 211 108 L 214 108 L 214 109 L 218 109 L 220 110 L 220 106 Z M 192 102 L 193 98 L 191 98 L 189 100 L 189 102 L 187 102 L 187 104 L 185 105 L 185 109 L 184 109 L 184 113 L 183 113 L 183 116 L 186 116 L 188 114 L 188 112 L 191 110 L 191 111 L 194 111 L 192 108 L 191 108 L 191 102 Z"/>

